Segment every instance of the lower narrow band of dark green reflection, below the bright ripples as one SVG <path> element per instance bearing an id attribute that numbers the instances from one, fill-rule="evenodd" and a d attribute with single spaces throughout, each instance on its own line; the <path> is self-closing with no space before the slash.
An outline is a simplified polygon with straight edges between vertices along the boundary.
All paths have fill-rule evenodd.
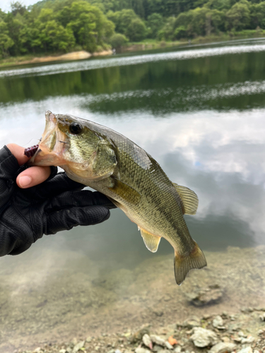
<path id="1" fill-rule="evenodd" d="M 128 111 L 150 111 L 155 116 L 172 112 L 199 111 L 204 109 L 249 109 L 264 107 L 265 81 L 245 81 L 216 85 L 182 86 L 179 88 L 134 90 L 114 92 L 89 97 L 84 102 L 93 112 L 102 114 Z M 257 97 L 259 95 L 259 100 Z M 247 99 L 242 102 L 240 98 Z M 237 100 L 237 101 L 236 101 Z"/>

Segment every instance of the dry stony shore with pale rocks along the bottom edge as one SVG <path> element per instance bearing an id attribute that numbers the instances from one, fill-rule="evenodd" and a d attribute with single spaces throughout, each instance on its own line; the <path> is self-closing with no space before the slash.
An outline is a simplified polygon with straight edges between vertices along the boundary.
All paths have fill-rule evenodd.
<path id="1" fill-rule="evenodd" d="M 242 308 L 235 315 L 192 316 L 182 323 L 153 329 L 102 333 L 98 337 L 57 345 L 47 344 L 33 351 L 14 353 L 265 353 L 265 308 Z"/>

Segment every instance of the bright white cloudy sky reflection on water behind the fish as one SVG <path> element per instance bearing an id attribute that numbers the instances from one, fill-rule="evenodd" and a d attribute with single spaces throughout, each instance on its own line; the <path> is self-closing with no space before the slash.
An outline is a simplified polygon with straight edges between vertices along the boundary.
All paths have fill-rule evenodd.
<path id="1" fill-rule="evenodd" d="M 88 98 L 57 97 L 0 107 L 1 145 L 14 141 L 25 145 L 37 139 L 45 126 L 45 109 L 109 126 L 150 153 L 172 181 L 198 193 L 194 220 L 230 215 L 237 222 L 247 222 L 261 241 L 265 229 L 264 109 L 171 113 L 167 119 L 148 112 L 115 117 L 88 111 L 83 104 Z"/>

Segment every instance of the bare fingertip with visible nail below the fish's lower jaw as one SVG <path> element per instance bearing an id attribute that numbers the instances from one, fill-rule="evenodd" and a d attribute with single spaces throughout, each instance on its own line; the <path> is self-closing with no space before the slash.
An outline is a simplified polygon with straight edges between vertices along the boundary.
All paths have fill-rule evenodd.
<path id="1" fill-rule="evenodd" d="M 21 189 L 28 189 L 32 186 L 43 183 L 51 174 L 50 167 L 30 167 L 18 174 L 16 184 Z"/>

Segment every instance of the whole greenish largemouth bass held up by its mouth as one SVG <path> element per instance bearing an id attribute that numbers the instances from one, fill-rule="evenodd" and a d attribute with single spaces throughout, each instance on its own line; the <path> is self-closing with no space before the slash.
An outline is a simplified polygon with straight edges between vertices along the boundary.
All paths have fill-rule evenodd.
<path id="1" fill-rule="evenodd" d="M 69 178 L 104 193 L 138 225 L 146 247 L 161 237 L 175 250 L 175 280 L 206 266 L 183 215 L 194 215 L 194 191 L 172 183 L 151 155 L 110 128 L 67 114 L 46 112 L 46 126 L 31 165 L 59 166 Z"/>

